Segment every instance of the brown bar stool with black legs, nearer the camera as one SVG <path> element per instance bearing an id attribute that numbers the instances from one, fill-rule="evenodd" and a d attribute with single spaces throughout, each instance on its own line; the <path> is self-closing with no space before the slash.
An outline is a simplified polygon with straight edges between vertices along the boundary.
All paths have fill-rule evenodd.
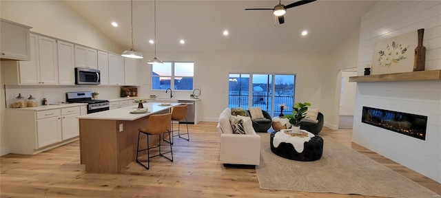
<path id="1" fill-rule="evenodd" d="M 172 123 L 171 119 L 172 119 L 172 113 L 165 113 L 161 115 L 150 115 L 147 120 L 147 127 L 138 129 L 138 145 L 136 146 L 136 163 L 141 164 L 141 166 L 144 166 L 144 168 L 147 168 L 147 170 L 149 170 L 150 168 L 150 158 L 152 157 L 162 156 L 173 162 L 172 144 L 170 144 L 170 151 L 165 152 L 165 153 L 172 153 L 172 158 L 163 155 L 165 153 L 161 153 L 161 134 L 163 135 L 164 133 L 168 133 L 169 140 L 172 141 L 172 136 L 170 135 L 170 130 L 169 130 L 170 124 Z M 139 137 L 141 133 L 147 135 L 147 148 L 139 150 Z M 158 145 L 150 147 L 150 142 L 149 142 L 150 135 L 159 135 Z M 150 156 L 150 149 L 156 147 L 159 147 L 159 154 Z M 141 163 L 138 160 L 138 153 L 145 150 L 147 150 L 147 166 L 145 166 L 143 163 Z"/>

